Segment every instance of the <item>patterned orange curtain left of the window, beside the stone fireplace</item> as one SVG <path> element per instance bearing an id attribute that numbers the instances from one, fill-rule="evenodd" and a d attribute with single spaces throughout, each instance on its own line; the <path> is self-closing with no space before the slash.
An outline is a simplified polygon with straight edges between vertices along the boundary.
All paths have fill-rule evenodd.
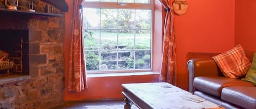
<path id="1" fill-rule="evenodd" d="M 72 40 L 68 72 L 68 91 L 81 92 L 87 87 L 84 46 L 82 40 L 82 8 L 84 0 L 75 0 L 72 19 Z"/>

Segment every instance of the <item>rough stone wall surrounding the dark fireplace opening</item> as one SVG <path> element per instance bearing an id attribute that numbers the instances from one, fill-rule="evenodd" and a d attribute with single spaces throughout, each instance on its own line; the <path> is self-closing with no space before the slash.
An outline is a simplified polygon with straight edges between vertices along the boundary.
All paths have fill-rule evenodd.
<path id="1" fill-rule="evenodd" d="M 20 0 L 24 9 L 28 0 Z M 1 0 L 0 0 L 1 2 Z M 35 11 L 43 12 L 45 3 L 34 0 Z M 23 5 L 23 7 L 22 7 Z M 28 29 L 30 79 L 0 84 L 0 108 L 51 108 L 63 103 L 64 88 L 64 14 L 62 17 L 1 17 L 0 29 Z M 10 17 L 10 16 L 9 16 Z M 15 22 L 11 22 L 15 20 Z M 26 22 L 26 23 L 24 23 Z M 19 24 L 18 24 L 19 23 Z M 0 35 L 1 36 L 1 35 Z M 39 46 L 33 46 L 38 45 Z M 32 50 L 39 52 L 33 52 Z"/>

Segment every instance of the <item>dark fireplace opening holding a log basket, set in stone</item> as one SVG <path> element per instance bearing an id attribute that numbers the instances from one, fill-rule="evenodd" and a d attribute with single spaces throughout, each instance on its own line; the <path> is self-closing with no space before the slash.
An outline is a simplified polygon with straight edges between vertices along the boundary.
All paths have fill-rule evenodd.
<path id="1" fill-rule="evenodd" d="M 0 78 L 28 73 L 28 30 L 0 30 Z"/>

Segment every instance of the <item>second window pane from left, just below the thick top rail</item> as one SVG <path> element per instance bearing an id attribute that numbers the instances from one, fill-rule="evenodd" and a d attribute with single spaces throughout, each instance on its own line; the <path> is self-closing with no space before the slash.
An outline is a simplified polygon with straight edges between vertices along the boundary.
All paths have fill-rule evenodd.
<path id="1" fill-rule="evenodd" d="M 101 27 L 107 29 L 117 28 L 117 9 L 101 9 Z"/>

